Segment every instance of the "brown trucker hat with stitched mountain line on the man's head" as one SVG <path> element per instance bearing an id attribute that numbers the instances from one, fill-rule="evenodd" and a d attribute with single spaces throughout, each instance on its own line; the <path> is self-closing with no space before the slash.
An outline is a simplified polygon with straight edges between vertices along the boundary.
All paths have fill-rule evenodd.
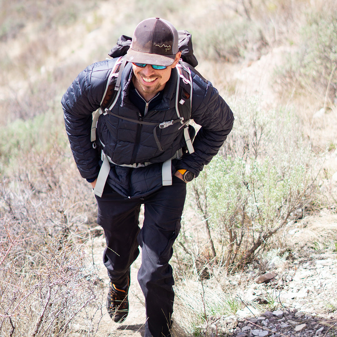
<path id="1" fill-rule="evenodd" d="M 172 23 L 150 18 L 139 23 L 134 30 L 126 60 L 169 66 L 178 51 L 178 31 Z"/>

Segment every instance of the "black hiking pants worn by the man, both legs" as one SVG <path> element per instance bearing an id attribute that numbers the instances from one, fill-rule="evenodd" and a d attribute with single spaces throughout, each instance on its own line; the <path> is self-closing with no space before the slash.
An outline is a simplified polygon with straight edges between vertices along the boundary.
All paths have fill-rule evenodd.
<path id="1" fill-rule="evenodd" d="M 144 198 L 124 198 L 108 185 L 102 197 L 96 197 L 97 222 L 106 239 L 103 262 L 117 286 L 127 284 L 130 266 L 139 254 L 138 246 L 142 248 L 138 282 L 145 296 L 145 337 L 170 336 L 174 280 L 168 262 L 179 234 L 185 197 L 186 184 L 175 176 L 171 186 L 163 186 Z M 138 220 L 141 204 L 142 229 Z"/>

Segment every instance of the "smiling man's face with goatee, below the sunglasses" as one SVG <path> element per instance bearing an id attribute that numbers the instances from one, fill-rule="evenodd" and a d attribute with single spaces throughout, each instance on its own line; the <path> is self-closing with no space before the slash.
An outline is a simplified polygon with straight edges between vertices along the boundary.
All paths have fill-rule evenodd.
<path id="1" fill-rule="evenodd" d="M 147 64 L 144 68 L 132 64 L 134 77 L 132 79 L 135 88 L 148 101 L 158 91 L 164 89 L 166 82 L 170 79 L 171 70 L 177 65 L 181 52 L 178 52 L 174 62 L 162 70 L 156 70 Z"/>

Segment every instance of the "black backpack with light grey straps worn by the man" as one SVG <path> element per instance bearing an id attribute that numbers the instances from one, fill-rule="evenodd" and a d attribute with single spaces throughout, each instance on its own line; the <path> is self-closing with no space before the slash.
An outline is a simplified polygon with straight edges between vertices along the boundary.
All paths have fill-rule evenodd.
<path id="1" fill-rule="evenodd" d="M 193 153 L 193 145 L 192 140 L 195 135 L 194 128 L 189 125 L 191 119 L 191 103 L 192 103 L 192 75 L 190 69 L 193 70 L 201 79 L 207 82 L 204 77 L 194 69 L 197 66 L 198 61 L 193 55 L 193 48 L 192 48 L 192 40 L 191 34 L 186 30 L 178 31 L 179 35 L 179 50 L 182 52 L 181 59 L 179 63 L 175 67 L 178 73 L 178 80 L 177 80 L 177 90 L 176 90 L 176 112 L 177 112 L 177 119 L 171 121 L 165 121 L 162 123 L 152 123 L 152 122 L 143 122 L 135 119 L 129 119 L 123 116 L 119 116 L 114 114 L 111 110 L 113 109 L 114 105 L 117 102 L 121 91 L 121 79 L 122 79 L 122 72 L 126 65 L 126 52 L 130 48 L 131 44 L 131 37 L 122 35 L 118 38 L 117 44 L 111 49 L 109 56 L 112 58 L 117 58 L 114 68 L 111 70 L 108 82 L 105 87 L 105 91 L 103 94 L 103 98 L 100 102 L 100 108 L 97 110 L 93 117 L 92 126 L 91 126 L 91 141 L 93 142 L 93 147 L 96 148 L 96 124 L 99 116 L 101 114 L 111 114 L 115 117 L 125 119 L 134 123 L 138 124 L 147 124 L 154 126 L 154 137 L 157 143 L 157 146 L 160 151 L 163 151 L 159 140 L 156 134 L 156 128 L 165 128 L 175 123 L 181 123 L 182 125 L 180 128 L 184 128 L 184 137 L 186 142 L 187 151 L 189 153 Z M 179 128 L 179 129 L 180 129 Z M 192 139 L 192 140 L 191 140 Z M 173 158 L 181 158 L 183 151 L 186 149 L 179 149 L 176 155 Z M 173 159 L 171 158 L 171 159 Z M 110 163 L 111 158 L 104 154 L 103 150 L 101 151 L 101 159 L 103 161 L 102 166 L 100 168 L 100 172 L 97 178 L 96 186 L 94 189 L 94 194 L 101 196 L 104 188 L 105 181 L 108 177 L 110 171 Z M 163 185 L 171 185 L 172 184 L 172 175 L 171 175 L 171 159 L 166 160 L 162 166 L 162 180 Z M 110 163 L 109 163 L 110 162 Z M 143 164 L 133 164 L 133 165 L 123 165 L 123 166 L 130 166 L 130 167 L 138 167 L 138 165 L 146 166 L 151 163 L 143 163 Z"/>

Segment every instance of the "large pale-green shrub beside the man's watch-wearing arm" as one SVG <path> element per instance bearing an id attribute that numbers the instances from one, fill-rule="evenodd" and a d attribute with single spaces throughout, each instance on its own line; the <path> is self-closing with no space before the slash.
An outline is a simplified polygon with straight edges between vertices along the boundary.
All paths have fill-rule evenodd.
<path id="1" fill-rule="evenodd" d="M 226 148 L 189 190 L 210 228 L 212 261 L 236 270 L 296 209 L 310 206 L 312 176 L 309 148 L 291 111 L 264 111 L 257 101 L 233 110 L 238 116 Z"/>

